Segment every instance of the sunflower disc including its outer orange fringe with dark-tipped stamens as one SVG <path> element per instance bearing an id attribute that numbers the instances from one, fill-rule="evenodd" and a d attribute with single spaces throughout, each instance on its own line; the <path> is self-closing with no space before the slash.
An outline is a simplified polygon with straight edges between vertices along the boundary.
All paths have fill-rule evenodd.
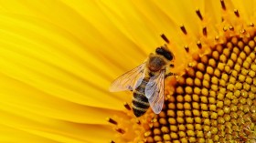
<path id="1" fill-rule="evenodd" d="M 161 113 L 134 118 L 126 103 L 130 120 L 109 118 L 119 134 L 116 142 L 256 142 L 256 28 L 243 24 L 237 9 L 230 12 L 222 0 L 219 5 L 219 35 L 202 26 L 197 53 L 184 46 L 193 59 L 166 79 Z M 196 14 L 204 25 L 199 9 Z M 186 27 L 180 29 L 187 38 Z"/>

